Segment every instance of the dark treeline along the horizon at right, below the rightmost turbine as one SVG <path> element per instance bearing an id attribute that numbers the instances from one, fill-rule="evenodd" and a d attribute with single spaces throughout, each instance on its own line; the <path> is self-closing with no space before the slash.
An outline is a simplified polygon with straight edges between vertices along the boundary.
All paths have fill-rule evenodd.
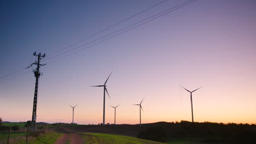
<path id="1" fill-rule="evenodd" d="M 146 126 L 144 124 L 143 126 Z M 159 122 L 148 124 L 138 138 L 160 142 L 188 140 L 205 143 L 255 143 L 255 124 L 187 122 Z"/>

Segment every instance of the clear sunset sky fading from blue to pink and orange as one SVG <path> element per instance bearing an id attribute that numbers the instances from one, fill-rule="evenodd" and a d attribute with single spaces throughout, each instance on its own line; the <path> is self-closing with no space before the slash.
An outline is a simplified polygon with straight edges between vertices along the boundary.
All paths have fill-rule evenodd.
<path id="1" fill-rule="evenodd" d="M 102 123 L 103 88 L 90 86 L 113 71 L 106 123 L 114 123 L 109 105 L 120 104 L 117 124 L 138 124 L 132 104 L 143 98 L 142 123 L 191 121 L 190 93 L 180 85 L 203 87 L 193 93 L 194 121 L 255 123 L 256 2 L 198 0 L 138 26 L 186 1 L 160 2 L 1 1 L 0 117 L 31 120 L 36 66 L 25 68 L 36 51 L 46 55 L 37 122 L 71 123 L 69 105 L 78 105 L 75 123 Z M 138 27 L 119 31 L 130 25 Z M 124 33 L 110 38 L 116 31 Z"/>

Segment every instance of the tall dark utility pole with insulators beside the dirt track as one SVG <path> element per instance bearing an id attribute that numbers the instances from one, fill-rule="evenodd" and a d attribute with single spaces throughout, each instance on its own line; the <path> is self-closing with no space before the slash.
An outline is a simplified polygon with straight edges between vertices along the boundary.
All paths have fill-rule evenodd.
<path id="1" fill-rule="evenodd" d="M 39 80 L 39 77 L 40 77 L 41 75 L 43 75 L 43 73 L 40 74 L 39 68 L 40 68 L 40 66 L 45 65 L 45 64 L 40 64 L 40 60 L 45 57 L 45 53 L 41 56 L 41 53 L 38 53 L 38 55 L 37 55 L 37 53 L 34 52 L 34 53 L 33 53 L 33 56 L 36 56 L 36 57 L 37 57 L 37 61 L 34 62 L 34 63 L 32 63 L 32 64 L 31 64 L 30 66 L 28 66 L 27 68 L 32 67 L 33 64 L 37 65 L 37 68 L 33 70 L 34 77 L 36 77 L 36 86 L 35 86 L 35 88 L 34 88 L 34 100 L 33 100 L 33 112 L 32 112 L 32 125 L 35 127 L 35 126 L 36 126 L 36 119 L 37 119 L 38 80 Z M 36 128 L 36 127 L 35 127 L 35 128 Z"/>

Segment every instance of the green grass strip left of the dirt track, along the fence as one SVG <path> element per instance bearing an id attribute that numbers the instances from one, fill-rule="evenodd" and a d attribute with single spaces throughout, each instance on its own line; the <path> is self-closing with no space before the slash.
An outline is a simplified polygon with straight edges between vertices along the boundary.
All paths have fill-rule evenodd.
<path id="1" fill-rule="evenodd" d="M 48 134 L 41 135 L 39 137 L 29 137 L 28 143 L 29 144 L 54 144 L 57 139 L 63 134 L 58 134 L 55 132 L 50 132 Z M 25 144 L 26 139 L 19 139 L 15 142 L 11 142 L 12 144 Z"/>

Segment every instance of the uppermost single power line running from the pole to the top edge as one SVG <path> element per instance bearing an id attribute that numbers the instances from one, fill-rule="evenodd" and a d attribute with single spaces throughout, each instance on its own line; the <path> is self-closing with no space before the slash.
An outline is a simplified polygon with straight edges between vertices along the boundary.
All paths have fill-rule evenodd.
<path id="1" fill-rule="evenodd" d="M 135 17 L 135 16 L 137 16 L 137 15 L 139 15 L 139 14 L 142 14 L 142 13 L 144 13 L 145 11 L 147 11 L 147 10 L 149 10 L 149 9 L 152 9 L 152 8 L 156 7 L 157 5 L 159 5 L 159 4 L 161 4 L 161 3 L 164 3 L 164 2 L 166 2 L 166 1 L 167 1 L 167 0 L 162 1 L 162 2 L 160 2 L 160 3 L 157 3 L 157 4 L 153 5 L 152 7 L 149 7 L 149 8 L 147 8 L 147 9 L 145 9 L 145 10 L 142 10 L 141 12 L 139 12 L 139 13 L 137 13 L 137 14 L 135 14 L 135 15 L 132 15 L 132 16 L 130 16 L 130 17 L 128 17 L 128 18 L 126 18 L 126 19 L 124 19 L 124 20 L 118 22 L 118 23 L 115 23 L 115 24 L 112 25 L 112 26 L 109 26 L 109 27 L 107 27 L 107 28 L 105 28 L 105 29 L 102 29 L 101 31 L 98 31 L 98 32 L 96 32 L 96 33 L 90 35 L 89 37 L 86 37 L 86 38 L 84 38 L 84 39 L 82 39 L 82 40 L 79 40 L 79 41 L 77 41 L 77 42 L 75 42 L 75 43 L 73 43 L 73 44 L 71 44 L 71 45 L 68 45 L 67 47 L 64 47 L 63 49 L 60 49 L 59 51 L 56 51 L 56 52 L 54 52 L 54 53 L 51 53 L 51 54 L 48 55 L 48 57 L 51 56 L 51 55 L 54 55 L 55 53 L 59 53 L 60 51 L 63 51 L 63 50 L 65 50 L 65 49 L 67 49 L 67 48 L 69 48 L 69 47 L 71 47 L 71 46 L 73 46 L 73 45 L 75 45 L 75 44 L 78 44 L 78 43 L 80 43 L 80 42 L 82 42 L 82 41 L 84 41 L 84 40 L 86 40 L 86 39 L 89 39 L 89 38 L 91 38 L 91 37 L 94 37 L 94 36 L 97 35 L 97 34 L 100 34 L 100 33 L 104 32 L 104 31 L 107 31 L 108 29 L 110 29 L 110 28 L 112 28 L 112 27 L 114 27 L 114 26 L 117 26 L 117 25 L 119 25 L 120 23 L 123 23 L 123 22 L 127 21 L 127 20 L 131 19 L 132 17 Z"/>

